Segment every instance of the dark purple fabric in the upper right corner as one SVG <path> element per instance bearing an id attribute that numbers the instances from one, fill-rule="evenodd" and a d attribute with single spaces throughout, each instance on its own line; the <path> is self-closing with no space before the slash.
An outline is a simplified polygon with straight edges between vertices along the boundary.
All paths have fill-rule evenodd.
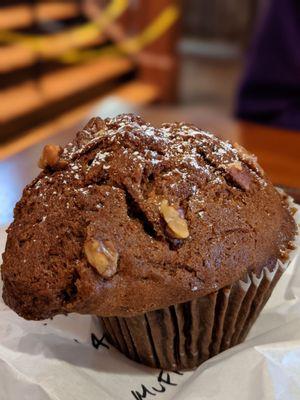
<path id="1" fill-rule="evenodd" d="M 238 93 L 239 118 L 300 130 L 300 1 L 271 0 Z"/>

